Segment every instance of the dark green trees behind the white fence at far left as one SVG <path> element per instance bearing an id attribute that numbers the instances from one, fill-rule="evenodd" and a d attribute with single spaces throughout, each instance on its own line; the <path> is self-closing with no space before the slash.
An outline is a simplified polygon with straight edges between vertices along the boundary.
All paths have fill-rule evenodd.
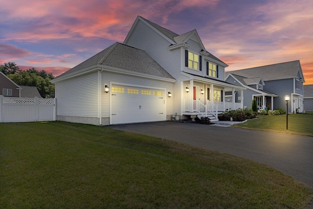
<path id="1" fill-rule="evenodd" d="M 37 87 L 43 98 L 54 98 L 54 84 L 50 82 L 54 78 L 52 73 L 35 68 L 20 70 L 14 62 L 4 63 L 0 66 L 0 71 L 17 85 Z"/>

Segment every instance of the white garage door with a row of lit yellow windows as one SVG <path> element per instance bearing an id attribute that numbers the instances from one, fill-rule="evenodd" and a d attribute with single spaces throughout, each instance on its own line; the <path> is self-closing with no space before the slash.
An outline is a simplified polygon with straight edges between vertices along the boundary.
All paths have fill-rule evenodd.
<path id="1" fill-rule="evenodd" d="M 112 85 L 111 124 L 166 120 L 165 91 Z"/>

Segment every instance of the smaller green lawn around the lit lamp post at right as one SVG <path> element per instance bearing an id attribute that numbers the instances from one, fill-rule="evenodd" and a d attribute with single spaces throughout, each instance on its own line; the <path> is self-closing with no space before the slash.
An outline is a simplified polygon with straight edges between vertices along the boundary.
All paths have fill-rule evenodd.
<path id="1" fill-rule="evenodd" d="M 256 119 L 248 120 L 245 123 L 233 125 L 233 127 L 283 132 L 287 134 L 298 134 L 313 137 L 313 113 L 289 114 L 288 130 L 286 129 L 286 115 L 280 116 L 258 116 Z"/>

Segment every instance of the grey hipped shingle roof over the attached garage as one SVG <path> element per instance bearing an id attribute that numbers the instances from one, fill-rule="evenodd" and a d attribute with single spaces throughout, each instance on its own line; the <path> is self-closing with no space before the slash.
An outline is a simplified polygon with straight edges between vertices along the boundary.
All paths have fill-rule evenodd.
<path id="1" fill-rule="evenodd" d="M 67 70 L 57 78 L 99 65 L 174 79 L 172 75 L 164 70 L 145 51 L 117 42 L 74 68 Z"/>

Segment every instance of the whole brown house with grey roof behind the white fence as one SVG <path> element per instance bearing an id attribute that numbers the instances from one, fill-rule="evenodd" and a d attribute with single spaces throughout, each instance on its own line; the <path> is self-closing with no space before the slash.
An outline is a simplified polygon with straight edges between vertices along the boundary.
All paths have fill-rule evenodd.
<path id="1" fill-rule="evenodd" d="M 10 97 L 42 98 L 35 86 L 17 85 L 2 72 L 0 72 L 0 95 Z"/>

